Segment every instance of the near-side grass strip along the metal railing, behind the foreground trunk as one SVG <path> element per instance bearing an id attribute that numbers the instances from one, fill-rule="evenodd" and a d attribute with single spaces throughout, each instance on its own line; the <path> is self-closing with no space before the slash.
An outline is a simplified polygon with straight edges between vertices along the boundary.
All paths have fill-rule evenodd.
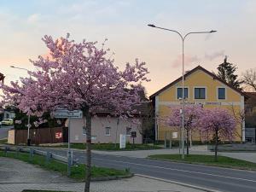
<path id="1" fill-rule="evenodd" d="M 3 151 L 0 151 L 0 157 L 5 157 L 5 154 Z M 34 154 L 32 160 L 30 160 L 29 154 L 26 154 L 26 153 L 19 153 L 19 155 L 16 156 L 15 152 L 8 152 L 7 157 L 14 158 L 17 160 L 22 160 L 33 165 L 38 165 L 46 170 L 61 172 L 62 175 L 67 175 L 67 164 L 57 160 L 50 160 L 49 162 L 46 162 L 45 157 L 38 154 Z M 78 166 L 71 167 L 70 177 L 77 180 L 83 180 L 84 175 L 85 175 L 84 164 L 79 164 Z M 91 177 L 122 177 L 122 176 L 129 176 L 129 175 L 131 175 L 129 170 L 123 171 L 123 170 L 116 170 L 116 169 L 110 169 L 110 168 L 98 167 L 98 166 L 91 167 Z"/>

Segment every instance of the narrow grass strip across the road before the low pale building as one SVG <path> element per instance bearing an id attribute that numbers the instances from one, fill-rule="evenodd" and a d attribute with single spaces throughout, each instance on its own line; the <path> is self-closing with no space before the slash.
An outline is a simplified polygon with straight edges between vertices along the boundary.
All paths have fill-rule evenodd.
<path id="1" fill-rule="evenodd" d="M 79 149 L 85 149 L 84 143 L 71 143 L 70 148 L 79 148 Z M 61 146 L 55 146 L 57 148 L 67 148 L 67 144 L 61 145 Z M 132 144 L 132 143 L 126 143 L 126 148 L 119 148 L 119 143 L 116 145 L 114 143 L 95 143 L 91 144 L 91 149 L 94 150 L 104 150 L 104 151 L 129 151 L 129 150 L 150 150 L 150 149 L 160 149 L 162 147 L 152 145 L 152 144 Z"/>

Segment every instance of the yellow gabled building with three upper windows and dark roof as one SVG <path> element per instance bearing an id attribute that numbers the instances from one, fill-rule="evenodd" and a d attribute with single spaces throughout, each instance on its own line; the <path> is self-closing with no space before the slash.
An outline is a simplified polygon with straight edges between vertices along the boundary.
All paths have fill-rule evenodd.
<path id="1" fill-rule="evenodd" d="M 201 66 L 195 67 L 184 75 L 185 104 L 201 104 L 203 108 L 228 108 L 238 121 L 234 141 L 245 141 L 245 123 L 242 118 L 245 96 L 241 90 L 226 84 Z M 165 140 L 166 132 L 173 130 L 160 123 L 158 119 L 170 113 L 172 106 L 182 108 L 182 97 L 182 77 L 167 84 L 149 97 L 154 103 L 156 140 Z M 193 141 L 201 141 L 199 132 L 192 133 L 192 135 Z"/>

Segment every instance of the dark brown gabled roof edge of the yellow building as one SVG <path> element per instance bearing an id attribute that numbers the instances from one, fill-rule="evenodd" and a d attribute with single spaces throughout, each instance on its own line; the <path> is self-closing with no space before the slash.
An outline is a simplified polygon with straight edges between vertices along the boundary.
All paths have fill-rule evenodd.
<path id="1" fill-rule="evenodd" d="M 236 92 L 240 93 L 242 96 L 247 96 L 241 90 L 238 90 L 238 89 L 236 89 L 236 87 L 233 87 L 230 84 L 227 84 L 222 79 L 219 79 L 215 74 L 207 71 L 207 69 L 205 69 L 204 67 L 201 67 L 201 66 L 197 66 L 197 67 L 193 68 L 192 70 L 190 70 L 188 73 L 185 73 L 184 74 L 184 79 L 186 79 L 186 77 L 188 77 L 190 74 L 195 73 L 195 71 L 197 71 L 197 70 L 201 70 L 204 73 L 207 73 L 208 75 L 212 76 L 212 79 L 217 79 L 221 83 L 223 83 L 223 84 L 227 85 L 228 87 L 230 87 L 232 90 L 236 90 Z M 162 89 L 156 91 L 153 95 L 149 96 L 149 99 L 153 99 L 155 96 L 159 95 L 160 92 L 162 92 L 162 91 L 172 87 L 173 84 L 177 84 L 177 82 L 181 81 L 182 79 L 183 79 L 183 77 L 180 77 L 180 78 L 176 79 L 175 81 L 173 81 L 171 84 L 167 84 L 165 87 L 163 87 Z"/>

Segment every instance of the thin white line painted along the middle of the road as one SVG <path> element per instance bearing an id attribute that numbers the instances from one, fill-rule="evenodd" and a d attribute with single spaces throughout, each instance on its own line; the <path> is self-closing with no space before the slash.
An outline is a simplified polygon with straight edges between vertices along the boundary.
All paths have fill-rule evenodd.
<path id="1" fill-rule="evenodd" d="M 231 179 L 256 183 L 256 180 L 251 180 L 251 179 L 246 179 L 246 178 L 222 176 L 222 175 L 216 175 L 216 174 L 205 173 L 205 172 L 191 172 L 191 171 L 182 170 L 182 169 L 174 169 L 174 168 L 168 168 L 168 167 L 163 167 L 163 166 L 149 166 L 149 165 L 144 165 L 144 164 L 140 164 L 140 163 L 131 163 L 131 162 L 120 161 L 120 160 L 106 160 L 106 159 L 101 159 L 101 158 L 93 158 L 93 159 L 94 160 L 113 161 L 113 162 L 117 162 L 117 163 L 131 164 L 131 165 L 135 165 L 135 166 L 148 166 L 148 167 L 154 167 L 154 168 L 165 169 L 165 170 L 172 170 L 172 171 L 177 171 L 177 172 L 189 172 L 189 173 L 195 173 L 195 174 L 201 174 L 201 175 L 207 175 L 207 176 L 213 176 L 213 177 L 231 178 Z"/>

